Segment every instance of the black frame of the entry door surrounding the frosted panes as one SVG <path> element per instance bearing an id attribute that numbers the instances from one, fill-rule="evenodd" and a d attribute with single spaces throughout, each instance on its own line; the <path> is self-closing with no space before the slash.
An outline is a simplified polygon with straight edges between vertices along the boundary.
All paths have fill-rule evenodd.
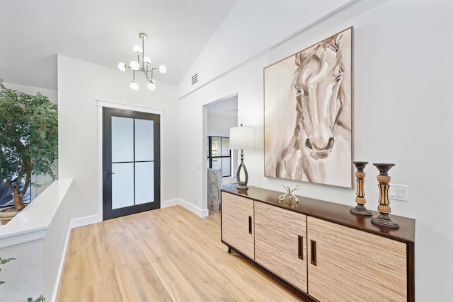
<path id="1" fill-rule="evenodd" d="M 154 202 L 112 209 L 112 167 L 111 167 L 111 117 L 130 117 L 154 120 Z M 118 108 L 103 107 L 103 220 L 159 209 L 161 207 L 161 147 L 160 115 Z"/>

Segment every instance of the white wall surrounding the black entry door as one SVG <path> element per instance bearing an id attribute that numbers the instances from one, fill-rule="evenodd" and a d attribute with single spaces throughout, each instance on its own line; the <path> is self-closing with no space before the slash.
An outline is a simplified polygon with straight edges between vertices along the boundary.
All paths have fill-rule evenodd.
<path id="1" fill-rule="evenodd" d="M 96 100 L 164 111 L 164 140 L 161 141 L 161 201 L 179 197 L 179 129 L 176 86 L 157 80 L 156 91 L 149 91 L 146 80 L 132 91 L 132 74 L 96 64 L 58 56 L 59 177 L 72 178 L 72 219 L 78 224 L 102 219 L 102 163 L 98 158 L 98 108 Z"/>

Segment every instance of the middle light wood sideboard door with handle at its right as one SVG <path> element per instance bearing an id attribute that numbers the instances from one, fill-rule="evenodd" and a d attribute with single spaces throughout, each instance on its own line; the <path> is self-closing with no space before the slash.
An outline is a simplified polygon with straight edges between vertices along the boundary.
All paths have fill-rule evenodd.
<path id="1" fill-rule="evenodd" d="M 255 260 L 306 292 L 306 216 L 255 202 Z"/>

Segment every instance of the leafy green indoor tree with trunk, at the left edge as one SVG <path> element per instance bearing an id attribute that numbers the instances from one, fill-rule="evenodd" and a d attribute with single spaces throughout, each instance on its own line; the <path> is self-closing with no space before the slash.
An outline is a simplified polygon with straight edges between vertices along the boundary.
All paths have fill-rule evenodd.
<path id="1" fill-rule="evenodd" d="M 13 191 L 21 211 L 31 175 L 51 175 L 58 155 L 57 105 L 37 93 L 8 89 L 0 79 L 0 178 Z"/>

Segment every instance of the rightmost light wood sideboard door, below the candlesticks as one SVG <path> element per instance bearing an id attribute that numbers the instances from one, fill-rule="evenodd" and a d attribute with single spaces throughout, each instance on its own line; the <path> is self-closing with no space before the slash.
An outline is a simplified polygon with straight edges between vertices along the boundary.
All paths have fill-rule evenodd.
<path id="1" fill-rule="evenodd" d="M 405 243 L 313 217 L 307 233 L 309 295 L 323 302 L 407 301 Z"/>

